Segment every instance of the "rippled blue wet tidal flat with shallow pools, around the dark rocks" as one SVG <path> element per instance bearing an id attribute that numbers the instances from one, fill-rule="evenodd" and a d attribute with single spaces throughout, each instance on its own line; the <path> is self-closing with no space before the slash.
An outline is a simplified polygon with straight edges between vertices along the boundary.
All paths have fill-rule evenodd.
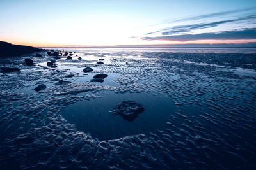
<path id="1" fill-rule="evenodd" d="M 0 60 L 21 69 L 0 73 L 0 169 L 256 169 L 255 48 L 59 50 Z M 109 113 L 127 100 L 145 111 Z"/>

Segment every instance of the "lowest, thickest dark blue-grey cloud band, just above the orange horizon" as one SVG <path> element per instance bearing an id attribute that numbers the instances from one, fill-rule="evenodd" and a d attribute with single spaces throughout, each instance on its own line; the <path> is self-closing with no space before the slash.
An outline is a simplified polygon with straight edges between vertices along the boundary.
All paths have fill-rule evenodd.
<path id="1" fill-rule="evenodd" d="M 256 39 L 256 29 L 240 29 L 234 31 L 221 31 L 202 34 L 183 34 L 173 36 L 142 37 L 143 40 L 164 40 L 164 41 L 195 41 L 195 40 L 235 40 L 235 39 Z"/>

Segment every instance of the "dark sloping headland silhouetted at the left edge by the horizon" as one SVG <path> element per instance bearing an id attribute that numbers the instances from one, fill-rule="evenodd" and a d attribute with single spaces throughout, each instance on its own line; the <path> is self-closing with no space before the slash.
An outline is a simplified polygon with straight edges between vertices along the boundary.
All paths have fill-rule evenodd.
<path id="1" fill-rule="evenodd" d="M 17 57 L 39 51 L 42 51 L 42 49 L 32 46 L 12 45 L 11 43 L 0 41 L 0 58 Z"/>

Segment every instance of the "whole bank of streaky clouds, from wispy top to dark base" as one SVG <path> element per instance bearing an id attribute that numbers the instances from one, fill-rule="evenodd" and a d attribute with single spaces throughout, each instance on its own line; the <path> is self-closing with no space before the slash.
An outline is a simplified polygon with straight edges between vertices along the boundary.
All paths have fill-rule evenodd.
<path id="1" fill-rule="evenodd" d="M 188 22 L 189 24 L 184 24 L 184 22 Z M 193 24 L 190 24 L 191 22 Z M 256 39 L 255 29 L 252 29 L 256 27 L 255 7 L 181 18 L 179 20 L 172 20 L 172 22 L 166 21 L 166 24 L 168 23 L 171 24 L 169 27 L 148 32 L 141 39 L 166 41 Z M 242 29 L 237 30 L 238 27 Z M 208 29 L 208 31 L 204 32 L 205 29 Z M 200 33 L 195 34 L 195 32 Z"/>

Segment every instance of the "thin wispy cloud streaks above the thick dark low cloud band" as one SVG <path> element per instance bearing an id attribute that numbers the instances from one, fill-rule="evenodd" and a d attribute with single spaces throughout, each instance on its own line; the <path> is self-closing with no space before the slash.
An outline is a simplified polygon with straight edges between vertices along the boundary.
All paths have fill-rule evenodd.
<path id="1" fill-rule="evenodd" d="M 243 25 L 243 28 L 248 28 L 252 26 L 252 24 L 256 24 L 256 8 L 244 8 L 240 10 L 232 10 L 232 11 L 223 11 L 219 13 L 211 13 L 207 15 L 198 15 L 195 17 L 183 18 L 179 20 L 173 20 L 172 22 L 166 22 L 165 24 L 173 24 L 174 22 L 182 22 L 181 25 L 171 26 L 171 27 L 163 27 L 162 29 L 158 29 L 157 31 L 148 32 L 146 36 L 169 36 L 169 35 L 177 35 L 177 34 L 189 34 L 191 31 L 217 27 L 222 24 L 235 24 L 236 26 Z M 234 16 L 236 15 L 236 16 Z M 239 15 L 239 17 L 237 17 Z M 222 20 L 220 20 L 222 18 Z M 225 20 L 223 20 L 225 18 Z M 214 20 L 214 22 L 205 22 L 205 20 Z M 189 23 L 193 22 L 193 24 L 183 24 L 184 21 L 188 21 Z M 246 26 L 244 26 L 246 25 Z M 236 29 L 233 26 L 233 29 Z M 226 29 L 227 30 L 227 29 Z"/>

